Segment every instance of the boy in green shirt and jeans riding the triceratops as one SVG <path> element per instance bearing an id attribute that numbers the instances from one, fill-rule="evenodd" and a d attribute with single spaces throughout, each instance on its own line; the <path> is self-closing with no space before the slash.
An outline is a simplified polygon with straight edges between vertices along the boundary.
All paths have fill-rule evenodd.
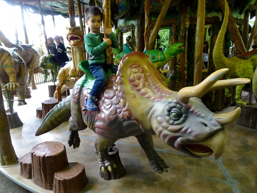
<path id="1" fill-rule="evenodd" d="M 86 34 L 84 38 L 85 47 L 89 54 L 89 68 L 93 76 L 96 78 L 92 90 L 85 101 L 85 105 L 89 111 L 98 111 L 99 109 L 94 100 L 97 99 L 99 94 L 102 92 L 107 81 L 107 77 L 105 75 L 105 48 L 109 45 L 112 45 L 113 48 L 117 48 L 118 41 L 111 28 L 104 26 L 104 28 L 101 28 L 101 33 L 99 32 L 103 20 L 103 14 L 97 7 L 87 7 L 84 15 L 85 22 L 90 29 L 90 32 Z M 105 39 L 104 34 L 108 35 L 109 38 Z M 117 69 L 118 67 L 116 65 L 112 65 L 112 73 L 116 74 Z"/>

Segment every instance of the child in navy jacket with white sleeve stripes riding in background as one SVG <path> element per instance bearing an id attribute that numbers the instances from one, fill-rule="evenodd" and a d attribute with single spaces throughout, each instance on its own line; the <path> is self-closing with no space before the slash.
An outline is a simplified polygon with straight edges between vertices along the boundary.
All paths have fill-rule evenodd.
<path id="1" fill-rule="evenodd" d="M 56 42 L 57 46 L 57 53 L 52 54 L 54 57 L 58 60 L 58 66 L 61 68 L 66 65 L 66 62 L 69 61 L 69 58 L 67 56 L 65 46 L 61 42 L 60 36 L 54 36 L 54 41 Z"/>

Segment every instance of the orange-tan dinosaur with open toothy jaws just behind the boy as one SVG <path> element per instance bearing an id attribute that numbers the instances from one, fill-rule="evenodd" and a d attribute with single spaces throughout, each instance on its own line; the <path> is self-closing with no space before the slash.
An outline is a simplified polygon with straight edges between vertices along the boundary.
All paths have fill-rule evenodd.
<path id="1" fill-rule="evenodd" d="M 78 67 L 78 64 L 83 61 L 83 44 L 84 37 L 79 26 L 67 28 L 67 40 L 71 47 L 72 61 L 62 67 L 58 73 L 58 83 L 54 98 L 62 101 L 61 93 L 66 89 L 71 89 L 76 81 L 85 73 Z"/>

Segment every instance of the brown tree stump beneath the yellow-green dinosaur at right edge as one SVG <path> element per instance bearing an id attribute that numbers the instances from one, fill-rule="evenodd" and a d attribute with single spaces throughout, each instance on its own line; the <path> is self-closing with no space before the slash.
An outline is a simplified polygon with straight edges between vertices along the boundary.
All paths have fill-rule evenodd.
<path id="1" fill-rule="evenodd" d="M 241 108 L 239 118 L 234 122 L 236 125 L 256 129 L 257 124 L 257 104 L 242 105 L 236 104 L 236 107 Z"/>

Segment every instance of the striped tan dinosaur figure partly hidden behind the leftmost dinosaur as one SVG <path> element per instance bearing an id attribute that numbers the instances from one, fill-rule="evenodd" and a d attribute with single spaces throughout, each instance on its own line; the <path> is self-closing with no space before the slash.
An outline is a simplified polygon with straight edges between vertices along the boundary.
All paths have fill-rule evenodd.
<path id="1" fill-rule="evenodd" d="M 28 85 L 30 85 L 32 74 L 41 73 L 44 74 L 44 71 L 38 66 L 40 54 L 34 48 L 29 45 L 22 43 L 12 43 L 8 40 L 3 32 L 0 30 L 0 41 L 7 48 L 16 48 L 14 50 L 17 54 L 19 54 L 22 59 L 25 61 L 27 68 L 29 70 L 29 78 L 27 80 Z"/>

